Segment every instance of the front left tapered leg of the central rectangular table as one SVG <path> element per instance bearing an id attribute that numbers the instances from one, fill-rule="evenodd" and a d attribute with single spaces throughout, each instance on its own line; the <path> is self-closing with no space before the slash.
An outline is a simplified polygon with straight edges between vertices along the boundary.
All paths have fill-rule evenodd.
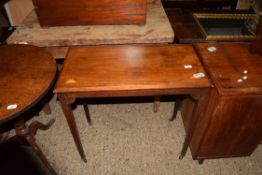
<path id="1" fill-rule="evenodd" d="M 71 131 L 71 134 L 74 138 L 77 150 L 78 150 L 82 160 L 84 162 L 87 162 L 85 152 L 84 152 L 81 140 L 80 140 L 79 132 L 78 132 L 78 129 L 77 129 L 77 126 L 76 126 L 76 122 L 75 122 L 75 118 L 74 118 L 74 114 L 73 114 L 71 105 L 68 104 L 66 101 L 64 101 L 63 98 L 60 97 L 59 99 L 60 99 L 60 103 L 61 103 L 61 107 L 63 109 L 64 115 L 65 115 L 66 120 L 67 120 L 67 124 L 68 124 L 70 131 Z"/>

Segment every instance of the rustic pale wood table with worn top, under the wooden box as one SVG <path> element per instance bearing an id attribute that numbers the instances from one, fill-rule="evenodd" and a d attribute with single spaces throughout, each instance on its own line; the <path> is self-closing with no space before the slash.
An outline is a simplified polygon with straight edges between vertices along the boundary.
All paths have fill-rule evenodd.
<path id="1" fill-rule="evenodd" d="M 55 58 L 65 58 L 75 45 L 171 43 L 174 32 L 160 0 L 149 0 L 144 25 L 86 25 L 40 27 L 32 11 L 7 39 L 8 44 L 31 44 L 47 48 Z"/>

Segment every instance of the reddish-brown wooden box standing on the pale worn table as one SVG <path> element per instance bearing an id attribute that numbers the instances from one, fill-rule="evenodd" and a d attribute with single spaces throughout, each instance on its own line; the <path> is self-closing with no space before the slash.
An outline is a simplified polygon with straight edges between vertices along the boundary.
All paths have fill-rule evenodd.
<path id="1" fill-rule="evenodd" d="M 147 0 L 33 0 L 41 26 L 144 24 Z"/>

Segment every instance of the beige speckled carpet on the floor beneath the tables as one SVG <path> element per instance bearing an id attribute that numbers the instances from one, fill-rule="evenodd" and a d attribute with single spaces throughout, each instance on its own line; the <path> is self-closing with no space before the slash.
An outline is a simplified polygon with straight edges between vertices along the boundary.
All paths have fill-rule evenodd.
<path id="1" fill-rule="evenodd" d="M 59 102 L 51 101 L 52 114 L 36 119 L 56 118 L 48 131 L 39 131 L 36 140 L 61 175 L 261 175 L 262 146 L 250 157 L 192 160 L 190 151 L 178 156 L 185 136 L 181 116 L 174 122 L 173 102 L 161 102 L 153 112 L 152 103 L 89 105 L 92 126 L 83 107 L 74 110 L 82 144 L 84 163 L 77 152 Z"/>

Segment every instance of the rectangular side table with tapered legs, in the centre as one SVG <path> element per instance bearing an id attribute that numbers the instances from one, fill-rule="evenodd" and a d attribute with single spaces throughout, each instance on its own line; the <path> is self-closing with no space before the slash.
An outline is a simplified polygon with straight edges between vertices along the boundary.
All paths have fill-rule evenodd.
<path id="1" fill-rule="evenodd" d="M 192 68 L 185 68 L 189 66 Z M 190 67 L 190 66 L 189 66 Z M 190 45 L 72 47 L 54 92 L 57 93 L 81 158 L 86 161 L 71 104 L 76 98 L 191 95 L 204 110 L 211 84 Z M 194 124 L 195 116 L 190 123 Z M 182 156 L 190 142 L 186 134 Z"/>

